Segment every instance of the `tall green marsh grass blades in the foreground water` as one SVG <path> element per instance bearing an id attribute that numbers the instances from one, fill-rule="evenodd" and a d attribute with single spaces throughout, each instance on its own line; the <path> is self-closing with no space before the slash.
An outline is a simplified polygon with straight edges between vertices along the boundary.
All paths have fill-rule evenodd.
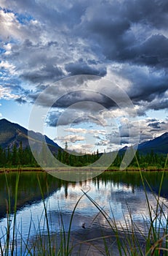
<path id="1" fill-rule="evenodd" d="M 168 155 L 167 155 L 168 158 Z M 137 161 L 138 165 L 138 161 Z M 165 162 L 165 167 L 167 166 L 167 159 Z M 104 208 L 99 206 L 92 197 L 89 196 L 89 190 L 85 192 L 81 189 L 82 195 L 77 200 L 76 205 L 73 208 L 71 213 L 71 219 L 69 222 L 68 232 L 65 231 L 65 224 L 63 221 L 63 215 L 60 211 L 60 227 L 59 232 L 55 233 L 55 230 L 50 229 L 49 221 L 51 219 L 49 213 L 49 203 L 44 199 L 43 188 L 41 187 L 41 181 L 37 174 L 37 181 L 39 184 L 39 189 L 41 191 L 42 203 L 44 206 L 43 217 L 41 216 L 39 221 L 38 228 L 36 228 L 36 236 L 31 238 L 31 227 L 34 227 L 33 218 L 31 217 L 28 236 L 23 238 L 22 235 L 22 223 L 17 223 L 17 193 L 19 188 L 20 173 L 17 173 L 15 181 L 15 204 L 14 209 L 11 209 L 10 201 L 10 188 L 8 183 L 7 174 L 5 175 L 5 180 L 7 184 L 7 227 L 3 236 L 0 238 L 0 255 L 1 256 L 13 256 L 13 255 L 44 255 L 44 256 L 70 256 L 70 255 L 92 255 L 90 254 L 91 249 L 95 249 L 97 254 L 95 255 L 130 255 L 130 256 L 167 256 L 168 255 L 168 209 L 164 202 L 161 200 L 161 186 L 164 180 L 164 171 L 161 175 L 161 181 L 159 184 L 159 193 L 156 194 L 153 192 L 148 180 L 143 176 L 143 172 L 140 170 L 140 177 L 143 184 L 143 189 L 145 192 L 145 203 L 148 209 L 148 218 L 149 222 L 146 221 L 145 217 L 142 216 L 144 220 L 145 229 L 148 230 L 147 234 L 144 234 L 140 227 L 132 219 L 132 212 L 127 205 L 128 216 L 124 219 L 123 223 L 117 223 L 114 217 L 113 211 L 111 209 L 110 217 Z M 152 208 L 146 187 L 148 186 L 151 189 L 153 197 L 156 200 L 156 208 Z M 108 224 L 108 227 L 111 230 L 111 234 L 107 234 L 101 230 L 100 227 L 100 236 L 86 238 L 82 241 L 75 241 L 72 237 L 72 222 L 73 217 L 76 211 L 76 208 L 79 206 L 79 202 L 82 197 L 87 197 L 88 200 L 97 208 L 98 214 L 92 220 L 92 223 L 99 219 L 99 216 L 102 215 L 105 222 Z M 127 202 L 126 202 L 127 203 Z M 41 223 L 43 226 L 41 227 Z M 46 231 L 47 230 L 47 231 Z M 20 239 L 20 244 L 17 243 L 18 238 Z M 101 246 L 97 243 L 101 241 Z M 83 252 L 83 246 L 87 246 L 85 254 Z M 115 248 L 115 249 L 114 249 Z M 74 254 L 75 252 L 75 254 Z"/>

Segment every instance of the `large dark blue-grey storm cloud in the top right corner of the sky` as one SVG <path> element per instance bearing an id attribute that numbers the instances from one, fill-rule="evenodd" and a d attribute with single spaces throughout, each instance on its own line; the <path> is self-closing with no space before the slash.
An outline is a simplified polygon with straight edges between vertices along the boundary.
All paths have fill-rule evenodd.
<path id="1" fill-rule="evenodd" d="M 81 31 L 106 59 L 167 67 L 167 9 L 165 1 L 104 1 L 88 8 Z"/>

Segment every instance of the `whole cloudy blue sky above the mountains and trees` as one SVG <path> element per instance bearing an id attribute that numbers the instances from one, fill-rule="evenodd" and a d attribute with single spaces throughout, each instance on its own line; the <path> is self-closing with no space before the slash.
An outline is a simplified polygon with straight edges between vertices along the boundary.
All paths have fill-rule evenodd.
<path id="1" fill-rule="evenodd" d="M 167 132 L 167 24 L 165 0 L 0 0 L 1 118 L 81 152 Z"/>

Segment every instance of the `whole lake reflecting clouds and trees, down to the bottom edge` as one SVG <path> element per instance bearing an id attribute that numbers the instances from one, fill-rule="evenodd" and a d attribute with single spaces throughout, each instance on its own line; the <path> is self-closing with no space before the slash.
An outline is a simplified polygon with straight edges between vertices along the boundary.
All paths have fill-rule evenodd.
<path id="1" fill-rule="evenodd" d="M 155 222 L 156 228 L 159 228 L 160 232 L 164 232 L 164 227 L 167 225 L 166 217 L 161 217 L 161 222 L 156 222 L 154 219 L 154 211 L 157 208 L 156 198 L 159 193 L 162 173 L 155 171 L 143 172 L 142 174 L 151 207 L 151 217 Z M 4 173 L 0 174 L 0 238 L 2 250 L 5 248 L 7 238 L 7 223 L 10 225 L 10 236 L 13 234 L 16 176 L 17 173 L 7 173 L 9 197 Z M 44 200 L 41 197 L 39 182 Z M 166 214 L 168 206 L 167 184 L 168 173 L 164 173 L 160 200 L 161 203 L 164 203 L 164 206 L 161 207 Z M 80 197 L 81 200 L 79 200 Z M 9 200 L 11 214 L 10 219 L 7 220 L 7 202 Z M 76 206 L 78 200 L 79 203 Z M 102 213 L 98 210 L 99 206 L 102 209 Z M 71 222 L 72 212 L 75 207 L 76 210 Z M 115 219 L 115 222 L 113 219 Z M 113 227 L 117 228 L 119 236 L 124 241 L 125 233 L 132 232 L 132 222 L 135 225 L 134 232 L 137 233 L 139 241 L 143 244 L 143 236 L 148 234 L 150 216 L 140 173 L 108 171 L 88 181 L 68 182 L 50 176 L 46 172 L 21 172 L 17 192 L 15 223 L 15 244 L 17 244 L 15 248 L 17 248 L 17 252 L 15 252 L 15 255 L 25 255 L 25 252 L 28 252 L 28 248 L 31 248 L 30 251 L 32 251 L 35 241 L 36 244 L 39 243 L 39 247 L 41 246 L 41 241 L 43 244 L 45 244 L 45 241 L 47 243 L 48 230 L 51 240 L 57 240 L 55 243 L 60 246 L 63 234 L 65 234 L 64 239 L 68 238 L 70 222 L 71 246 L 72 243 L 76 245 L 72 255 L 77 255 L 79 249 L 80 255 L 93 255 L 93 253 L 95 255 L 103 255 L 103 236 L 107 237 L 106 243 L 108 244 L 108 249 L 111 252 L 113 251 L 113 255 L 119 255 Z M 78 246 L 79 244 L 80 246 Z"/>

